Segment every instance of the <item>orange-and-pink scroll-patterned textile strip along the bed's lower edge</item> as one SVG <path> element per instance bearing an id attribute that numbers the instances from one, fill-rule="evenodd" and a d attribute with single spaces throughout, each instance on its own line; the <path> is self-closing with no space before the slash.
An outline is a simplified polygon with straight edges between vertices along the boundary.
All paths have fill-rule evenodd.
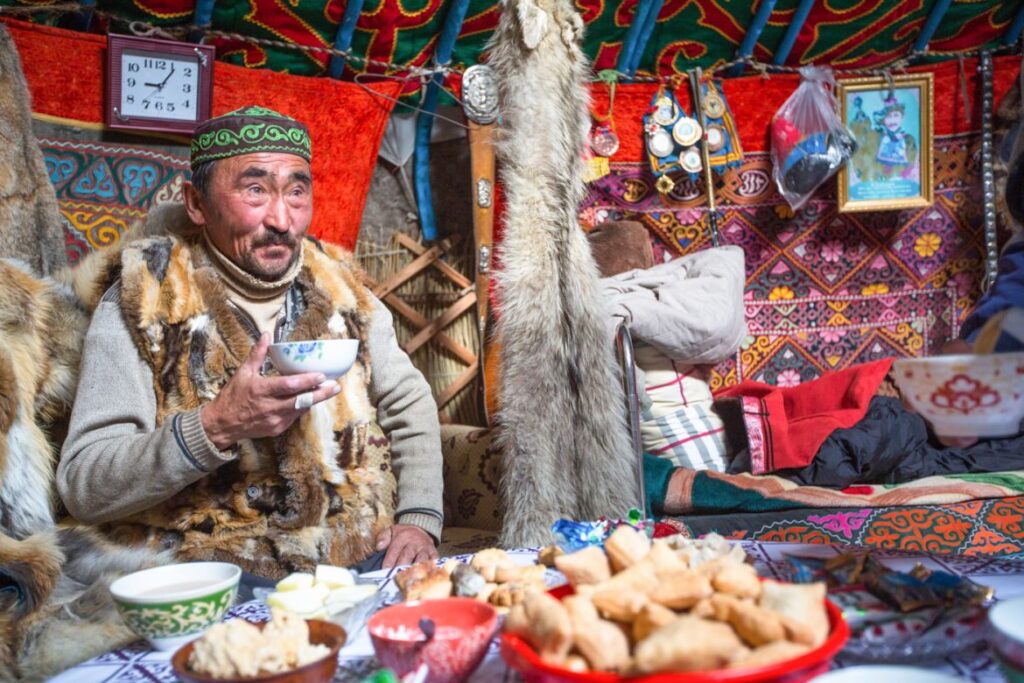
<path id="1" fill-rule="evenodd" d="M 1024 497 L 912 507 L 786 510 L 667 520 L 691 536 L 1024 559 Z"/>

